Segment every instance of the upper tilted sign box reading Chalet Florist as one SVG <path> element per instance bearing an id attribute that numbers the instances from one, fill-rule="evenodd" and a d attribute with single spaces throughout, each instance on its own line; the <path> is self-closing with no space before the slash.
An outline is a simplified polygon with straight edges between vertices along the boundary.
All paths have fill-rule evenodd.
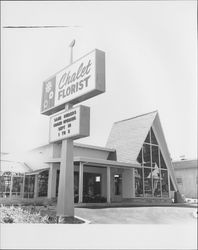
<path id="1" fill-rule="evenodd" d="M 105 92 L 105 53 L 95 49 L 43 82 L 41 114 L 51 115 Z"/>

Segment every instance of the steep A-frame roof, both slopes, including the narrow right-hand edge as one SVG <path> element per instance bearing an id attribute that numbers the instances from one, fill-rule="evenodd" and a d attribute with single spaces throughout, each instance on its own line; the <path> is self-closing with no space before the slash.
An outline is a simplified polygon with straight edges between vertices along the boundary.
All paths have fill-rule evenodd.
<path id="1" fill-rule="evenodd" d="M 115 122 L 106 146 L 116 149 L 117 161 L 137 163 L 138 154 L 151 127 L 156 136 L 166 166 L 169 169 L 174 188 L 178 190 L 170 153 L 157 111 Z"/>

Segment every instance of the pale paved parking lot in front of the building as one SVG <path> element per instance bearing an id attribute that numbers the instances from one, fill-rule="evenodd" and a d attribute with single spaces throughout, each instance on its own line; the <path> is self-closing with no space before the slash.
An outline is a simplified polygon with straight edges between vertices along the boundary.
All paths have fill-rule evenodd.
<path id="1" fill-rule="evenodd" d="M 189 207 L 75 208 L 91 224 L 195 224 L 197 209 Z"/>

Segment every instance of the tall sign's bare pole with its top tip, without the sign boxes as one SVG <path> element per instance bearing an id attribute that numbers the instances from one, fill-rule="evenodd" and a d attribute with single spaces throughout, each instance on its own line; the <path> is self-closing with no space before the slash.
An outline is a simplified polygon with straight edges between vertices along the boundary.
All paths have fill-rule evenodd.
<path id="1" fill-rule="evenodd" d="M 70 65 L 73 63 L 73 47 L 75 40 L 70 47 Z M 65 104 L 65 111 L 72 108 L 72 104 Z M 57 216 L 74 216 L 74 166 L 73 166 L 73 139 L 62 140 L 61 165 L 58 187 Z"/>

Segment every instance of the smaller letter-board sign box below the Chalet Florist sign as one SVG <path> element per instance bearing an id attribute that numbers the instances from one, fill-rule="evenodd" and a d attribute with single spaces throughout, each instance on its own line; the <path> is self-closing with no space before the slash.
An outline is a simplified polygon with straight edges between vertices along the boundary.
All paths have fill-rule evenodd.
<path id="1" fill-rule="evenodd" d="M 60 112 L 50 117 L 49 142 L 63 139 L 79 139 L 89 136 L 90 108 L 78 107 Z"/>

